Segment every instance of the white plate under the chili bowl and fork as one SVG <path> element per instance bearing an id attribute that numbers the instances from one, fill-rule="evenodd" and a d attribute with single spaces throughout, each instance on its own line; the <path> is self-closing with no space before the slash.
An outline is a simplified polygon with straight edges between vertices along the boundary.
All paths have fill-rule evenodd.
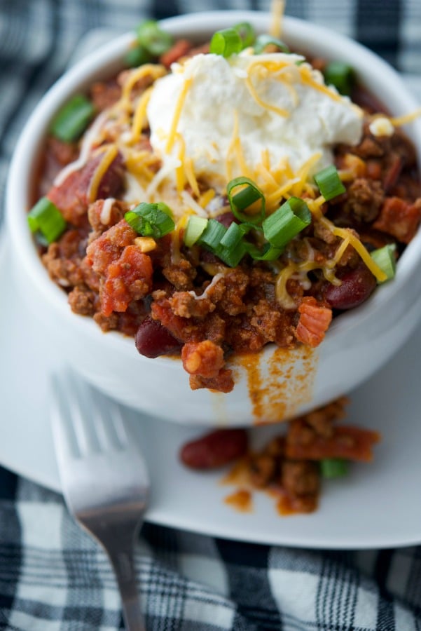
<path id="1" fill-rule="evenodd" d="M 60 491 L 48 422 L 48 374 L 60 357 L 16 290 L 6 248 L 0 251 L 0 463 Z M 135 353 L 135 349 L 133 348 Z M 352 393 L 347 422 L 380 430 L 375 461 L 324 484 L 319 510 L 280 517 L 275 503 L 254 495 L 254 511 L 224 503 L 234 489 L 221 473 L 180 465 L 179 447 L 198 431 L 125 414 L 136 427 L 152 480 L 146 519 L 214 536 L 305 548 L 382 548 L 421 541 L 421 328 L 363 387 Z M 364 361 L 364 358 L 361 358 Z M 273 428 L 271 428 L 273 430 Z M 202 430 L 199 430 L 202 431 Z M 257 440 L 268 428 L 253 430 Z"/>

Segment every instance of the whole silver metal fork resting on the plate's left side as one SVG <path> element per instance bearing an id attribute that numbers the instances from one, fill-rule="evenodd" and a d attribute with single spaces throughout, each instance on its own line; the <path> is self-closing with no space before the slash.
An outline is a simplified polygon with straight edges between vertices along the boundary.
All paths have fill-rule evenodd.
<path id="1" fill-rule="evenodd" d="M 127 630 L 144 631 L 133 555 L 149 494 L 143 456 L 116 402 L 70 371 L 53 375 L 51 386 L 50 419 L 67 506 L 109 556 Z"/>

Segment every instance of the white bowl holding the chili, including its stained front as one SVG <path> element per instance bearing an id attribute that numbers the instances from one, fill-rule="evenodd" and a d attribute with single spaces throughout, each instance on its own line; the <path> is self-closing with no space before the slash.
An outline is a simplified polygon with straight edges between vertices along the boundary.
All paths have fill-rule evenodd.
<path id="1" fill-rule="evenodd" d="M 215 30 L 239 21 L 267 32 L 270 15 L 219 11 L 195 13 L 162 22 L 174 36 L 205 41 Z M 117 72 L 132 42 L 127 34 L 79 62 L 55 83 L 34 110 L 15 149 L 7 192 L 8 229 L 17 278 L 29 313 L 39 318 L 40 335 L 48 336 L 88 381 L 142 412 L 178 423 L 247 426 L 281 421 L 347 393 L 380 367 L 410 335 L 420 313 L 421 234 L 399 260 L 396 277 L 378 287 L 365 304 L 333 321 L 315 350 L 282 351 L 267 346 L 258 355 L 235 360 L 235 388 L 228 394 L 191 391 L 181 361 L 148 359 L 137 353 L 132 338 L 104 334 L 96 323 L 71 312 L 67 297 L 48 277 L 26 213 L 30 205 L 34 164 L 53 114 L 92 80 Z M 291 48 L 350 63 L 364 83 L 394 115 L 417 107 L 394 70 L 366 48 L 336 33 L 293 18 L 284 19 L 284 39 Z M 421 154 L 421 123 L 410 125 Z"/>

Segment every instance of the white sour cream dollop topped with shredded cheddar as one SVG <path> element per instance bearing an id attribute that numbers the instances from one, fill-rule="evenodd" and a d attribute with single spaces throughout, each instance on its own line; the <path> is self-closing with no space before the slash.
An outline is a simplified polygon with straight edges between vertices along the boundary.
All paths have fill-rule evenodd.
<path id="1" fill-rule="evenodd" d="M 287 160 L 295 173 L 319 153 L 315 172 L 331 163 L 334 144 L 357 144 L 362 133 L 361 109 L 301 55 L 247 50 L 173 64 L 156 81 L 147 116 L 164 166 L 188 158 L 196 177 L 221 186 L 230 164 L 232 175 L 244 175 L 238 151 L 251 172 L 263 152 L 271 167 Z"/>

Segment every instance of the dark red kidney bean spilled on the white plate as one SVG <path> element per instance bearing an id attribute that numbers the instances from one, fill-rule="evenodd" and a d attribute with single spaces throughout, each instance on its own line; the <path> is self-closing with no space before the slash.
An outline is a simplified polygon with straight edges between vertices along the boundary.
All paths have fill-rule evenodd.
<path id="1" fill-rule="evenodd" d="M 193 469 L 215 469 L 233 462 L 247 452 L 243 429 L 215 430 L 181 447 L 180 459 Z"/>

